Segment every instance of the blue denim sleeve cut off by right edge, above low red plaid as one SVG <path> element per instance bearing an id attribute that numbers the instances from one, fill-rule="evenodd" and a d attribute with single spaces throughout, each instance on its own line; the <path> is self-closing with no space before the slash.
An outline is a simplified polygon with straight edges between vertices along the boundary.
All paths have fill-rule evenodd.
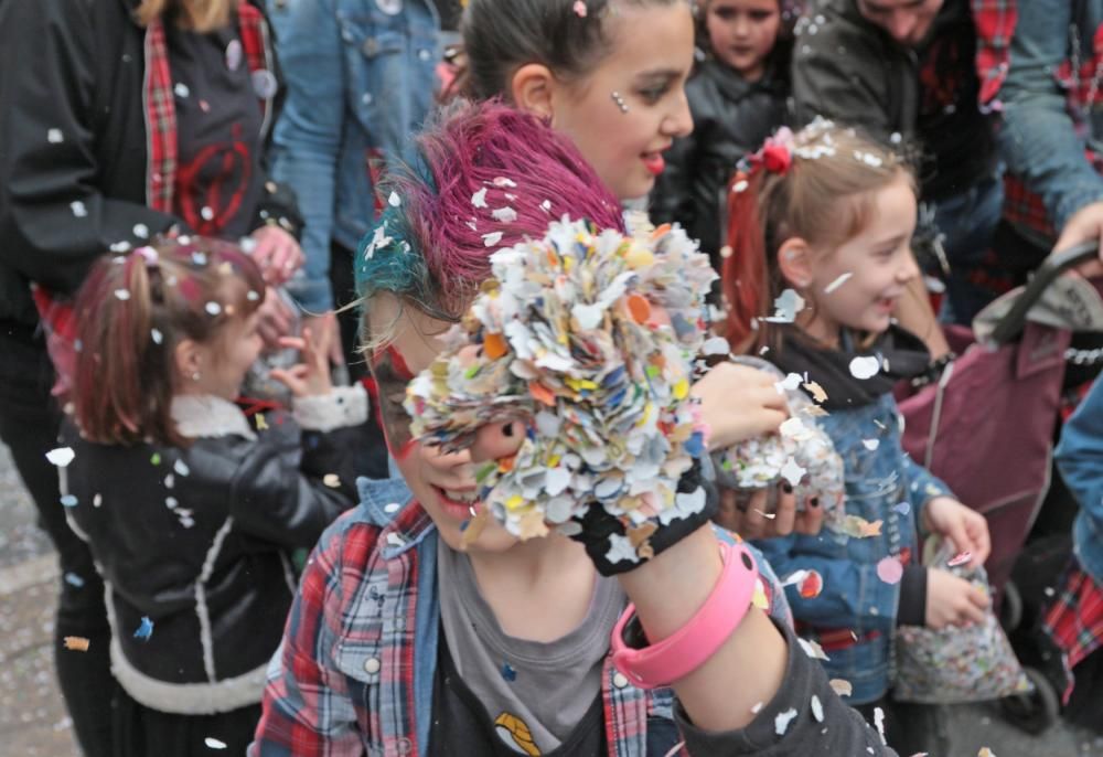
<path id="1" fill-rule="evenodd" d="M 1103 381 L 1095 382 L 1064 425 L 1057 465 L 1080 501 L 1072 526 L 1077 559 L 1103 586 Z"/>

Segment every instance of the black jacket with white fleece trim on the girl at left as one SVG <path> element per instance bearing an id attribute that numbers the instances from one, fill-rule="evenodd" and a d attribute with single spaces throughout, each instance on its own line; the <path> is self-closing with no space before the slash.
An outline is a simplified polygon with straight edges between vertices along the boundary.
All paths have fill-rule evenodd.
<path id="1" fill-rule="evenodd" d="M 135 700 L 182 714 L 260 701 L 295 597 L 291 552 L 356 501 L 366 408 L 357 385 L 297 405 L 301 425 L 271 413 L 254 426 L 232 403 L 178 397 L 186 448 L 98 445 L 63 427 L 75 457 L 62 502 L 103 574 L 113 672 Z"/>

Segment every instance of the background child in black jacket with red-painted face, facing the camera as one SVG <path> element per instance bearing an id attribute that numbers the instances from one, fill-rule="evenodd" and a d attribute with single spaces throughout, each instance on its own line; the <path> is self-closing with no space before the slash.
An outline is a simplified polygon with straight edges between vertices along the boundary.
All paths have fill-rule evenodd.
<path id="1" fill-rule="evenodd" d="M 704 0 L 705 60 L 686 84 L 693 132 L 674 140 L 651 195 L 656 223 L 677 221 L 719 270 L 724 192 L 743 156 L 789 121 L 792 17 L 783 0 Z"/>

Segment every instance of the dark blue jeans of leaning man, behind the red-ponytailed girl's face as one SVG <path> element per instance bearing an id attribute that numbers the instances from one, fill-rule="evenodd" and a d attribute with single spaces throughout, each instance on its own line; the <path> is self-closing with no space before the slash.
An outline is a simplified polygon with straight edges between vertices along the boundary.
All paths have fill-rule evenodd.
<path id="1" fill-rule="evenodd" d="M 972 274 L 984 265 L 1003 212 L 1003 169 L 960 194 L 929 205 L 934 210 L 934 224 L 950 264 L 942 320 L 967 326 L 1000 294 L 977 284 Z"/>

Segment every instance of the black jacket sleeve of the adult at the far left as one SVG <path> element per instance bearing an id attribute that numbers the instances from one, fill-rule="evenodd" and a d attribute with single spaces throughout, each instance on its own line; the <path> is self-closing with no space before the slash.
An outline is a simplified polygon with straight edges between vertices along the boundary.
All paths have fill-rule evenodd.
<path id="1" fill-rule="evenodd" d="M 135 226 L 176 223 L 105 196 L 92 126 L 95 2 L 0 2 L 0 259 L 32 281 L 73 294 L 95 258 Z"/>

